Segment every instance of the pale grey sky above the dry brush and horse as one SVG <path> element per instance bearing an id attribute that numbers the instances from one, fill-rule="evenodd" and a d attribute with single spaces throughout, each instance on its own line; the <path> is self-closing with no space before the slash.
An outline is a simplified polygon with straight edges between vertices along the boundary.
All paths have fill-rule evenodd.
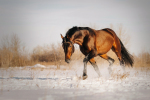
<path id="1" fill-rule="evenodd" d="M 17 34 L 27 49 L 61 43 L 73 26 L 120 24 L 131 53 L 150 51 L 150 0 L 0 0 L 0 37 Z"/>

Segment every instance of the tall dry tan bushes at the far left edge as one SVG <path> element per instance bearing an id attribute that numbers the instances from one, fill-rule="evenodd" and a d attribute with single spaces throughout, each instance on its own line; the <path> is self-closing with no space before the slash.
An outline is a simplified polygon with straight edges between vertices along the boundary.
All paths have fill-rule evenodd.
<path id="1" fill-rule="evenodd" d="M 25 47 L 22 46 L 16 34 L 11 37 L 5 36 L 1 38 L 0 45 L 0 66 L 25 66 L 30 64 Z"/>

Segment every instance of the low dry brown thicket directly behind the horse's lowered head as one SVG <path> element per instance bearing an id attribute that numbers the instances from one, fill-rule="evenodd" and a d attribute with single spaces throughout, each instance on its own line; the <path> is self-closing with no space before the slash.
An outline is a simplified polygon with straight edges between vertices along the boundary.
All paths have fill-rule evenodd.
<path id="1" fill-rule="evenodd" d="M 72 60 L 80 60 L 83 59 L 84 56 L 78 49 L 78 46 L 75 45 L 75 52 L 72 55 Z M 40 64 L 53 64 L 58 68 L 60 65 L 66 65 L 65 63 L 65 54 L 62 48 L 62 45 L 58 43 L 57 45 L 45 45 L 45 46 L 37 46 L 34 48 L 33 53 L 31 55 L 31 60 L 33 62 L 39 62 Z"/>

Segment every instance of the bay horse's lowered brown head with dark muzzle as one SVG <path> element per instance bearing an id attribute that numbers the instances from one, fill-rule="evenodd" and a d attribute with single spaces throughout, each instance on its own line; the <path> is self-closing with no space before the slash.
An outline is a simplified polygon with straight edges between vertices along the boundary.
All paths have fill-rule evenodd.
<path id="1" fill-rule="evenodd" d="M 63 37 L 61 34 L 61 38 L 63 39 L 62 41 L 62 47 L 64 49 L 65 53 L 65 61 L 67 63 L 70 63 L 71 56 L 75 51 L 73 43 L 69 40 L 69 38 Z"/>

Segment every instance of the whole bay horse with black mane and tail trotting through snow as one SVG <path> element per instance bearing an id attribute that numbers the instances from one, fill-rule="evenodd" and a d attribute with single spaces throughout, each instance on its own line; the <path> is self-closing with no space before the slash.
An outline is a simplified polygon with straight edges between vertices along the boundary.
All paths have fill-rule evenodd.
<path id="1" fill-rule="evenodd" d="M 85 55 L 83 60 L 83 80 L 87 78 L 87 62 L 89 61 L 94 67 L 98 76 L 100 77 L 100 71 L 94 60 L 94 57 L 100 56 L 109 62 L 108 70 L 111 73 L 111 66 L 114 63 L 114 59 L 109 57 L 106 53 L 112 49 L 117 55 L 120 65 L 125 70 L 125 66 L 133 66 L 133 56 L 124 47 L 121 40 L 117 37 L 115 32 L 110 28 L 101 30 L 95 30 L 89 27 L 72 27 L 70 28 L 65 37 L 61 34 L 62 46 L 65 53 L 65 61 L 70 62 L 70 58 L 75 51 L 74 44 L 78 44 L 80 51 Z"/>

